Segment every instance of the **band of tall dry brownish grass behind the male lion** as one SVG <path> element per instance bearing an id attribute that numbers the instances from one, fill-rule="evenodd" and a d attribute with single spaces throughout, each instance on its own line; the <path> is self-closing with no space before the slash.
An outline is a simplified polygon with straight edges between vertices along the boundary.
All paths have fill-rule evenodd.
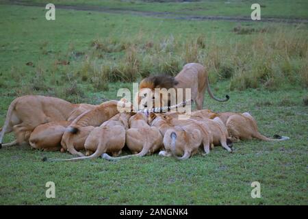
<path id="1" fill-rule="evenodd" d="M 233 33 L 236 34 L 237 33 Z M 307 31 L 274 28 L 238 37 L 192 36 L 188 40 L 167 36 L 158 40 L 137 35 L 96 39 L 81 62 L 81 78 L 98 90 L 108 81 L 138 81 L 151 74 L 176 75 L 184 64 L 199 62 L 209 71 L 211 83 L 230 79 L 230 89 L 283 83 L 308 86 Z"/>

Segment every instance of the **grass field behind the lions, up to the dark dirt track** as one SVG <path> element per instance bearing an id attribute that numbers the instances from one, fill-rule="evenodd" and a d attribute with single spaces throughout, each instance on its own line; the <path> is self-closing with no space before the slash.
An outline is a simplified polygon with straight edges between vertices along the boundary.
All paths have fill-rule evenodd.
<path id="1" fill-rule="evenodd" d="M 0 12 L 0 86 L 18 95 L 35 88 L 64 97 L 66 91 L 55 88 L 75 81 L 92 92 L 107 90 L 106 81 L 175 75 L 188 62 L 204 64 L 211 82 L 231 77 L 231 89 L 308 84 L 307 25 L 140 19 L 74 10 L 57 10 L 56 21 L 46 21 L 45 10 L 37 7 L 3 6 Z"/>

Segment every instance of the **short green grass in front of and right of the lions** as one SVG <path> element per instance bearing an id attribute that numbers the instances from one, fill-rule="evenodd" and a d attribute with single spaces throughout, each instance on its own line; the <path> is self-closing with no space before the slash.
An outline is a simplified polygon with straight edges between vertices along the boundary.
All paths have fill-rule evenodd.
<path id="1" fill-rule="evenodd" d="M 218 83 L 222 95 L 226 83 Z M 1 204 L 86 205 L 307 205 L 307 106 L 303 90 L 230 92 L 228 103 L 206 98 L 218 111 L 249 111 L 261 133 L 290 136 L 286 142 L 242 141 L 235 152 L 221 147 L 184 162 L 158 155 L 107 162 L 47 163 L 42 157 L 71 157 L 29 146 L 1 149 Z M 112 97 L 112 96 L 110 96 Z M 288 101 L 283 101 L 288 100 Z M 44 184 L 54 181 L 56 198 Z M 261 198 L 251 198 L 251 183 Z"/>

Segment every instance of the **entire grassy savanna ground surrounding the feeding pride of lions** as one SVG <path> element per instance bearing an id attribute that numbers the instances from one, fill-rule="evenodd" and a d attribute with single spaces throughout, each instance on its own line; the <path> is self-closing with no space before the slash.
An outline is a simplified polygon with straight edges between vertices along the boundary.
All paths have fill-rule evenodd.
<path id="1" fill-rule="evenodd" d="M 36 4 L 44 1 L 18 1 Z M 246 16 L 252 1 L 153 3 L 53 1 L 58 5 Z M 242 141 L 227 153 L 177 162 L 158 155 L 107 162 L 48 163 L 69 154 L 29 146 L 0 150 L 2 205 L 307 205 L 308 29 L 305 23 L 194 21 L 142 14 L 56 9 L 0 1 L 0 124 L 10 102 L 25 94 L 57 96 L 74 103 L 119 99 L 118 88 L 151 74 L 176 75 L 188 62 L 209 70 L 214 111 L 251 112 L 267 136 L 286 142 Z M 261 18 L 308 18 L 307 1 L 260 1 Z M 44 5 L 44 4 L 42 4 Z M 4 142 L 14 139 L 12 134 Z M 54 181 L 56 198 L 46 198 Z M 261 198 L 251 198 L 251 183 Z"/>

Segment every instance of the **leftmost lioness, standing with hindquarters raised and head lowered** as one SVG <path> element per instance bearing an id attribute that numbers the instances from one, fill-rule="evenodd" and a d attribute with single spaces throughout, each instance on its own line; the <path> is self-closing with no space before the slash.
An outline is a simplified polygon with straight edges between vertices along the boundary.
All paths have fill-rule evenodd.
<path id="1" fill-rule="evenodd" d="M 8 108 L 5 123 L 0 133 L 0 148 L 5 133 L 14 131 L 16 140 L 3 144 L 3 146 L 28 142 L 31 132 L 38 125 L 62 120 L 71 121 L 82 112 L 94 107 L 95 105 L 73 104 L 49 96 L 27 95 L 18 97 L 12 101 Z"/>

